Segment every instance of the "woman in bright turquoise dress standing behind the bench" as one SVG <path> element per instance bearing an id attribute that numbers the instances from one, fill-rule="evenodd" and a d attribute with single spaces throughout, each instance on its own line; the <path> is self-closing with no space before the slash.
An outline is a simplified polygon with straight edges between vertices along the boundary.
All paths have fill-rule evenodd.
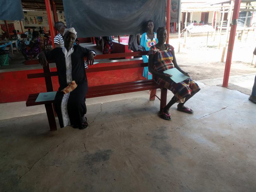
<path id="1" fill-rule="evenodd" d="M 149 48 L 152 45 L 155 45 L 158 43 L 156 33 L 154 32 L 154 21 L 149 20 L 146 22 L 146 32 L 141 35 L 140 39 L 140 45 L 143 48 L 143 51 L 149 51 Z M 149 57 L 147 55 L 143 55 L 143 63 L 148 63 Z M 148 67 L 144 67 L 143 70 L 143 77 L 146 79 L 152 79 L 152 74 L 149 72 Z"/>

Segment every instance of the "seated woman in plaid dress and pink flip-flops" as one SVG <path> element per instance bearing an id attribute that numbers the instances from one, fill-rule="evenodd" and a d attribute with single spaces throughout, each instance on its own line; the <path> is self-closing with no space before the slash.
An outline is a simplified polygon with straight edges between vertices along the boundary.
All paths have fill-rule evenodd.
<path id="1" fill-rule="evenodd" d="M 167 39 L 167 31 L 164 27 L 157 29 L 158 43 L 150 47 L 149 50 L 149 72 L 154 75 L 154 80 L 162 87 L 169 89 L 173 92 L 174 96 L 170 102 L 162 110 L 162 118 L 171 120 L 169 113 L 170 107 L 178 102 L 177 109 L 185 113 L 193 113 L 193 110 L 185 107 L 184 104 L 194 94 L 196 94 L 200 87 L 190 77 L 179 83 L 175 83 L 171 80 L 171 76 L 163 73 L 167 69 L 177 68 L 184 75 L 189 76 L 178 66 L 174 55 L 174 47 L 168 44 L 164 44 Z"/>

